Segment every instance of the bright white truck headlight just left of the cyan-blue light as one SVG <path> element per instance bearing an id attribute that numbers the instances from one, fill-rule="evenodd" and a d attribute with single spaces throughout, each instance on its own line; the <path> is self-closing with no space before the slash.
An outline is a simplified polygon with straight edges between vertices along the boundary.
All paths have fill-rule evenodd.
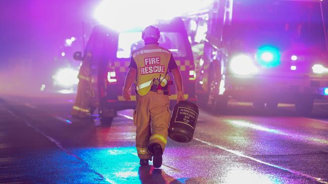
<path id="1" fill-rule="evenodd" d="M 230 70 L 238 75 L 251 75 L 258 72 L 258 68 L 254 65 L 253 59 L 245 54 L 232 57 Z"/>

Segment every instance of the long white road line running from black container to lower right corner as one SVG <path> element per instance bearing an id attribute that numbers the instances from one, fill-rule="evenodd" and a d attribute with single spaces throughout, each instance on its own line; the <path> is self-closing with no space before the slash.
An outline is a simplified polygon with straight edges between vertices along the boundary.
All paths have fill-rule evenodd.
<path id="1" fill-rule="evenodd" d="M 230 149 L 227 149 L 227 148 L 224 148 L 222 146 L 219 146 L 219 145 L 215 145 L 215 144 L 212 144 L 210 142 L 207 142 L 207 141 L 203 141 L 203 140 L 200 140 L 198 138 L 193 138 L 194 140 L 196 141 L 199 141 L 201 143 L 204 143 L 208 146 L 212 146 L 212 147 L 215 147 L 215 148 L 219 148 L 221 150 L 224 150 L 224 151 L 227 151 L 229 153 L 232 153 L 232 154 L 235 154 L 235 155 L 238 155 L 240 157 L 244 157 L 244 158 L 248 158 L 250 160 L 253 160 L 255 162 L 258 162 L 258 163 L 262 163 L 264 165 L 268 165 L 268 166 L 271 166 L 271 167 L 274 167 L 274 168 L 278 168 L 278 169 L 282 169 L 282 170 L 285 170 L 285 171 L 288 171 L 290 173 L 293 173 L 293 174 L 297 174 L 297 175 L 300 175 L 300 176 L 304 176 L 304 177 L 307 177 L 307 178 L 310 178 L 312 180 L 315 180 L 315 181 L 318 181 L 318 182 L 321 182 L 321 183 L 326 183 L 328 184 L 328 181 L 324 181 L 322 180 L 321 178 L 319 177 L 314 177 L 314 176 L 311 176 L 311 175 L 308 175 L 308 174 L 304 174 L 302 172 L 298 172 L 298 171 L 295 171 L 295 170 L 291 170 L 291 169 L 287 169 L 287 168 L 284 168 L 284 167 L 281 167 L 281 166 L 278 166 L 278 165 L 275 165 L 275 164 L 271 164 L 271 163 L 268 163 L 268 162 L 264 162 L 262 160 L 259 160 L 259 159 L 256 159 L 256 158 L 253 158 L 251 156 L 247 156 L 245 154 L 243 154 L 242 152 L 239 152 L 239 151 L 235 151 L 235 150 L 230 150 Z"/>

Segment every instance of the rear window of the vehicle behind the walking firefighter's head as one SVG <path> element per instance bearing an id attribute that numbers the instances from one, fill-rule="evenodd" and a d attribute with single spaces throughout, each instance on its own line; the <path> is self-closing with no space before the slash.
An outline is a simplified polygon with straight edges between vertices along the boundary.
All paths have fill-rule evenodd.
<path id="1" fill-rule="evenodd" d="M 129 58 L 131 52 L 145 45 L 141 38 L 142 32 L 123 32 L 118 37 L 117 58 Z M 180 33 L 161 32 L 159 45 L 169 49 L 174 57 L 185 57 L 186 49 Z"/>

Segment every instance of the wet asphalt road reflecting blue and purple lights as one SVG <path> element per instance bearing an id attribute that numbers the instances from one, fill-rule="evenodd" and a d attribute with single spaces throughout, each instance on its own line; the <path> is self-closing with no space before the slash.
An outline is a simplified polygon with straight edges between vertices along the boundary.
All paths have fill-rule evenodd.
<path id="1" fill-rule="evenodd" d="M 0 183 L 328 183 L 328 103 L 310 117 L 248 103 L 200 109 L 190 143 L 139 167 L 132 110 L 111 125 L 69 115 L 74 96 L 0 96 Z"/>

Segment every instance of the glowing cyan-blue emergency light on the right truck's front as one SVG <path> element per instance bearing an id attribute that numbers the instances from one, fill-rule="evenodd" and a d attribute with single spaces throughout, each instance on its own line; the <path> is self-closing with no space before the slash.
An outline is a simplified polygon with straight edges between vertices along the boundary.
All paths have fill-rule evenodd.
<path id="1" fill-rule="evenodd" d="M 280 53 L 276 47 L 262 46 L 256 54 L 256 59 L 264 67 L 276 67 L 280 64 Z"/>

